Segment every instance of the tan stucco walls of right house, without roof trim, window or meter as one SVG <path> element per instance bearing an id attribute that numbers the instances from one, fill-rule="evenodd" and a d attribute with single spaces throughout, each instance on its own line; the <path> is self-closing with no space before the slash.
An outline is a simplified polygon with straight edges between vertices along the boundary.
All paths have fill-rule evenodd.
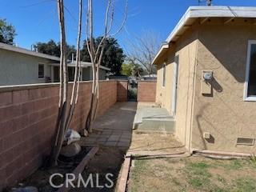
<path id="1" fill-rule="evenodd" d="M 174 50 L 161 58 L 167 61 L 166 87 L 162 88 L 162 66 L 158 65 L 157 102 L 168 109 L 173 82 L 170 65 L 174 54 L 179 55 L 176 135 L 188 149 L 256 153 L 255 142 L 237 145 L 238 138 L 256 138 L 256 102 L 243 101 L 247 46 L 255 39 L 256 26 L 244 19 L 227 24 L 220 18 L 202 25 L 195 22 L 170 46 Z M 202 70 L 214 75 L 208 95 L 202 94 Z M 204 133 L 210 138 L 203 138 Z"/>

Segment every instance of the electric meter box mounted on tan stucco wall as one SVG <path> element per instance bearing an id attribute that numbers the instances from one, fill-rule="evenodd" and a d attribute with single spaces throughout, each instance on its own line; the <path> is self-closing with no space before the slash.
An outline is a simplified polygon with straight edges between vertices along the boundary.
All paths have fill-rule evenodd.
<path id="1" fill-rule="evenodd" d="M 212 94 L 212 80 L 213 80 L 212 70 L 202 70 L 201 78 L 201 93 L 202 94 Z"/>

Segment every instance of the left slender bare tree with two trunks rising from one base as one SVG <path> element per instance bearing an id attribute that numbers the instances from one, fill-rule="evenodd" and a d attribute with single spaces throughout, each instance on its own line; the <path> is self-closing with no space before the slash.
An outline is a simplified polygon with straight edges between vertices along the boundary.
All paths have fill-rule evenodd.
<path id="1" fill-rule="evenodd" d="M 54 146 L 50 154 L 50 166 L 56 166 L 58 164 L 58 155 L 62 148 L 63 139 L 66 134 L 66 130 L 70 126 L 74 114 L 74 108 L 78 101 L 79 90 L 79 78 L 80 78 L 80 39 L 81 39 L 81 27 L 82 27 L 82 0 L 79 0 L 79 21 L 78 21 L 78 38 L 77 38 L 77 59 L 74 73 L 73 89 L 70 99 L 70 107 L 66 112 L 67 102 L 67 64 L 66 64 L 66 32 L 65 32 L 65 20 L 64 20 L 64 3 L 63 0 L 57 0 L 58 2 L 58 19 L 60 26 L 60 86 L 59 86 L 59 103 L 58 103 L 58 119 L 56 123 L 56 136 Z"/>

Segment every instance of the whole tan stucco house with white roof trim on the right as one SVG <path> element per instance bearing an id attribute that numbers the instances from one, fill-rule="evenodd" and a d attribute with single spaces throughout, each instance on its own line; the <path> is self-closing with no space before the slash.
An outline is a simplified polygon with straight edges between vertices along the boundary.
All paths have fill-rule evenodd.
<path id="1" fill-rule="evenodd" d="M 156 101 L 190 151 L 256 153 L 256 7 L 190 7 L 154 58 Z"/>

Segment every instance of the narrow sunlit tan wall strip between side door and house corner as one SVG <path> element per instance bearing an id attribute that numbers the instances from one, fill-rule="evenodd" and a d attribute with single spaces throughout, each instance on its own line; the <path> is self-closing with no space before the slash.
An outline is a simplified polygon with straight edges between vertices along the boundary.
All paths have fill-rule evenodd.
<path id="1" fill-rule="evenodd" d="M 186 148 L 190 147 L 190 127 L 193 111 L 193 84 L 194 68 L 197 55 L 197 31 L 188 31 L 177 42 L 176 56 L 178 56 L 178 82 L 176 98 L 176 114 L 174 116 L 176 136 L 184 143 Z"/>

